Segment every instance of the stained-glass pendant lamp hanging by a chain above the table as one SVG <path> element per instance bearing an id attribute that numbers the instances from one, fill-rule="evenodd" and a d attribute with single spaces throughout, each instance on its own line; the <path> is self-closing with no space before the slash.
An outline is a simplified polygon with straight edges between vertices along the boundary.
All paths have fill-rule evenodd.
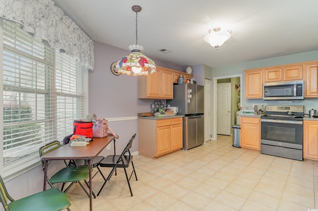
<path id="1" fill-rule="evenodd" d="M 126 75 L 134 76 L 149 75 L 156 72 L 157 67 L 152 59 L 142 53 L 144 47 L 137 44 L 137 16 L 138 12 L 140 12 L 142 8 L 139 5 L 134 5 L 131 8 L 134 12 L 136 12 L 136 44 L 129 46 L 131 53 L 117 61 L 115 71 L 118 74 L 124 73 Z"/>

